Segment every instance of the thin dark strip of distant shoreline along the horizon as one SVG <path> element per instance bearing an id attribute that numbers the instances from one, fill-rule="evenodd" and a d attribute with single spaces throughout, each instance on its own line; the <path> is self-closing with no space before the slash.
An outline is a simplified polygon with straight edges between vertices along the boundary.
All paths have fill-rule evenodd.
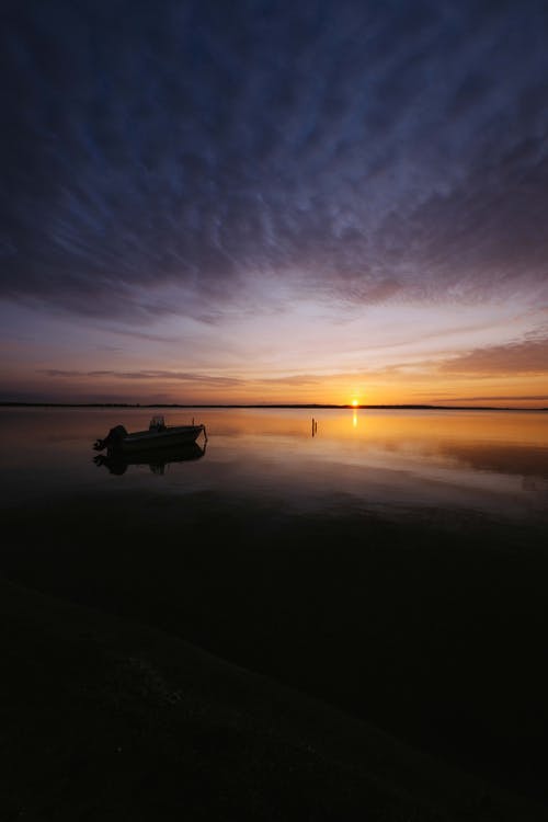
<path id="1" fill-rule="evenodd" d="M 254 409 L 350 409 L 350 410 L 388 410 L 388 411 L 548 411 L 548 407 L 520 408 L 516 406 L 429 406 L 429 404 L 399 404 L 399 406 L 335 406 L 329 403 L 165 403 L 165 402 L 0 402 L 0 408 L 254 408 Z"/>

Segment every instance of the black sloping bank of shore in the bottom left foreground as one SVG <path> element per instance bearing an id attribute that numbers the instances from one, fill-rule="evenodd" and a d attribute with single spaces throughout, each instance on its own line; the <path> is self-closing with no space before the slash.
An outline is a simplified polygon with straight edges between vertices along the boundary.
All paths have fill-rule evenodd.
<path id="1" fill-rule="evenodd" d="M 3 820 L 540 818 L 165 633 L 8 583 L 1 610 Z"/>

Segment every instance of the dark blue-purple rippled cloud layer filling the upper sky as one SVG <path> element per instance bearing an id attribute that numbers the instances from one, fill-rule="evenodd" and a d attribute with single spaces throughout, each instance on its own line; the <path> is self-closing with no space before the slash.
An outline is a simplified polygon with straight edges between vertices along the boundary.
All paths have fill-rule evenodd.
<path id="1" fill-rule="evenodd" d="M 548 282 L 546 2 L 2 8 L 3 297 L 138 318 L 184 311 L 162 284 L 214 310 L 261 276 L 352 302 Z"/>

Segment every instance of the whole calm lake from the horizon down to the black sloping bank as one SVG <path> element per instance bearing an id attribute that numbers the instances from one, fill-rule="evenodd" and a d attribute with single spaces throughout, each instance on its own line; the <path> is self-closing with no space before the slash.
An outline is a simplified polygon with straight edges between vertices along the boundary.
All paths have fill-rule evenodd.
<path id="1" fill-rule="evenodd" d="M 203 454 L 94 460 L 157 412 L 204 423 Z M 546 798 L 548 413 L 0 414 L 7 576 Z"/>

